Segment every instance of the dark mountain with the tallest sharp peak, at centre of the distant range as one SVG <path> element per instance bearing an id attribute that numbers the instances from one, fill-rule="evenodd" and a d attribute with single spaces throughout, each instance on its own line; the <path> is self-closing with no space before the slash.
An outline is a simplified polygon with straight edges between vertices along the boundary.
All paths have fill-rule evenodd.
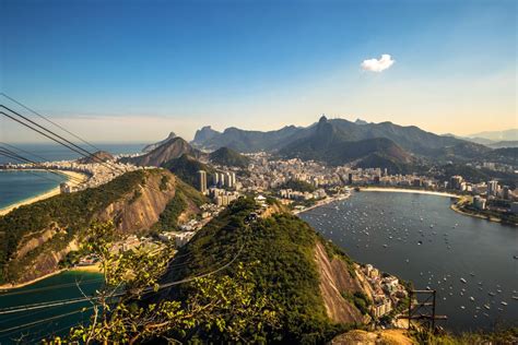
<path id="1" fill-rule="evenodd" d="M 415 162 L 410 153 L 389 139 L 350 141 L 350 138 L 335 122 L 322 116 L 309 136 L 286 145 L 279 154 L 287 158 L 321 160 L 331 165 L 352 163 L 358 167 L 387 168 L 392 174 L 405 171 L 407 166 Z"/>

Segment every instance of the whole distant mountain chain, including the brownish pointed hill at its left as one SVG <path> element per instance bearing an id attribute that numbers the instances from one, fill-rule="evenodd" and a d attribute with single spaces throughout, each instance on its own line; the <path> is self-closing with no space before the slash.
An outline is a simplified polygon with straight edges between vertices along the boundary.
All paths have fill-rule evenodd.
<path id="1" fill-rule="evenodd" d="M 169 135 L 173 136 L 173 135 Z M 426 166 L 468 163 L 473 159 L 514 164 L 516 150 L 494 150 L 457 138 L 438 135 L 415 126 L 389 121 L 373 123 L 322 116 L 308 127 L 286 126 L 274 131 L 248 131 L 227 128 L 223 132 L 203 127 L 187 143 L 178 136 L 167 138 L 148 153 L 125 158 L 141 166 L 162 166 L 183 155 L 217 165 L 245 167 L 247 158 L 238 152 L 269 152 L 282 158 L 298 157 L 329 165 L 387 168 L 390 174 L 420 171 Z M 211 154 L 204 153 L 212 151 Z"/>

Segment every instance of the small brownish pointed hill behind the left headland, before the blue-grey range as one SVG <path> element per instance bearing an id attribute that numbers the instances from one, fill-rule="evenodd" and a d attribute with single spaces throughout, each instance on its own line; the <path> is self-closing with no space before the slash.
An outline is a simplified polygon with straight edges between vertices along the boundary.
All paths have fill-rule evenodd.
<path id="1" fill-rule="evenodd" d="M 181 155 L 188 154 L 195 158 L 203 157 L 204 154 L 189 145 L 184 139 L 173 138 L 149 153 L 138 157 L 123 157 L 122 163 L 131 163 L 138 166 L 155 166 L 160 167 L 167 160 L 178 158 Z"/>

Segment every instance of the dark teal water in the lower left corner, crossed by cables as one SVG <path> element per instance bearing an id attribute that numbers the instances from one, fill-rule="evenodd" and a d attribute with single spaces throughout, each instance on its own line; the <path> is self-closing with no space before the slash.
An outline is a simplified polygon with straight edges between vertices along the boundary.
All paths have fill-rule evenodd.
<path id="1" fill-rule="evenodd" d="M 96 273 L 64 272 L 27 287 L 0 293 L 0 309 L 82 297 L 76 282 L 86 295 L 92 295 L 101 286 L 102 276 Z M 67 334 L 71 326 L 89 320 L 91 311 L 81 312 L 82 308 L 89 306 L 89 302 L 81 302 L 0 316 L 0 344 L 13 344 L 22 335 L 23 344 L 34 344 L 52 334 Z M 56 318 L 66 313 L 71 314 Z M 13 329 L 17 326 L 23 329 Z"/>

